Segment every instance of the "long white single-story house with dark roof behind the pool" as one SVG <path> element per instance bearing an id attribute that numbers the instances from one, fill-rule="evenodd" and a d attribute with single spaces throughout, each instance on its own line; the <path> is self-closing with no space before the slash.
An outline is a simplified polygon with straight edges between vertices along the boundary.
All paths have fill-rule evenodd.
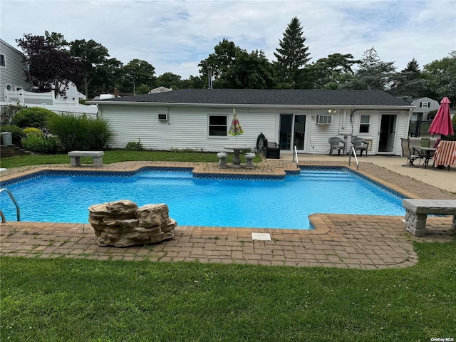
<path id="1" fill-rule="evenodd" d="M 123 148 L 222 151 L 233 109 L 244 129 L 237 143 L 255 147 L 263 133 L 283 152 L 328 153 L 328 138 L 358 135 L 369 154 L 401 155 L 413 106 L 381 90 L 182 89 L 93 101 Z M 349 145 L 349 144 L 348 144 Z M 348 152 L 348 151 L 347 151 Z"/>

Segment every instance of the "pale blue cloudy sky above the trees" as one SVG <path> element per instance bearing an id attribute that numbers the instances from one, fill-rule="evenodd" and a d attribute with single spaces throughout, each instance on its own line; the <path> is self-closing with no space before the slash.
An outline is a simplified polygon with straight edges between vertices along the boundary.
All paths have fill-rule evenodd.
<path id="1" fill-rule="evenodd" d="M 155 76 L 199 76 L 198 64 L 226 38 L 239 48 L 262 50 L 269 61 L 291 19 L 301 21 L 309 63 L 331 53 L 361 59 L 375 48 L 397 71 L 415 58 L 420 67 L 456 50 L 456 1 L 279 0 L 0 0 L 0 37 L 44 31 L 67 41 L 93 39 L 124 65 L 135 58 Z"/>

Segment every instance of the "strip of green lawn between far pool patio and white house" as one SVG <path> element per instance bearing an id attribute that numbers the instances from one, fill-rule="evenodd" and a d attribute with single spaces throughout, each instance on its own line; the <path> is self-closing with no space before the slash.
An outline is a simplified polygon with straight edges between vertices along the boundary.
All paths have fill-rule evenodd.
<path id="1" fill-rule="evenodd" d="M 244 155 L 241 155 L 242 162 L 245 162 Z M 218 162 L 216 152 L 166 152 L 166 151 L 125 151 L 112 150 L 105 151 L 103 164 L 113 162 L 125 162 L 129 160 L 146 161 L 173 161 L 173 162 Z M 230 153 L 227 162 L 232 162 L 233 154 Z M 254 158 L 254 162 L 261 161 L 259 154 Z M 81 162 L 91 164 L 91 157 L 82 157 Z M 15 157 L 1 158 L 0 166 L 11 168 L 26 165 L 41 164 L 70 164 L 70 157 L 65 154 L 60 155 L 17 155 Z"/>

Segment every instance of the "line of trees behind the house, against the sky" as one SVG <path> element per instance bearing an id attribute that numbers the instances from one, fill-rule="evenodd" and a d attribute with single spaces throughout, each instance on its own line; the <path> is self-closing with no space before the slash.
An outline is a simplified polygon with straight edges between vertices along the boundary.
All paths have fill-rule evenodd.
<path id="1" fill-rule="evenodd" d="M 413 58 L 402 71 L 394 62 L 380 60 L 375 48 L 369 48 L 360 60 L 351 54 L 332 53 L 310 63 L 309 46 L 297 17 L 283 33 L 274 56 L 269 61 L 264 51 L 248 52 L 232 41 L 223 39 L 214 53 L 200 61 L 199 75 L 182 79 L 167 72 L 155 76 L 155 68 L 140 59 L 127 64 L 110 58 L 108 49 L 90 39 L 68 42 L 61 33 L 44 36 L 24 34 L 17 39 L 24 51 L 26 80 L 37 91 L 55 89 L 64 95 L 68 82 L 73 82 L 87 98 L 110 93 L 142 94 L 150 89 L 207 88 L 207 67 L 212 67 L 213 88 L 234 89 L 353 89 L 384 90 L 408 100 L 447 96 L 456 105 L 456 51 L 432 61 L 420 69 Z"/>

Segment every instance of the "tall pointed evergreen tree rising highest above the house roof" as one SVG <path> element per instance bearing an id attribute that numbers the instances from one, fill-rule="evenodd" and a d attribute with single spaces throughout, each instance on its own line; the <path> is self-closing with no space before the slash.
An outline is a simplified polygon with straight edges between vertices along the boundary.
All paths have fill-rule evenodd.
<path id="1" fill-rule="evenodd" d="M 295 16 L 284 32 L 284 38 L 279 41 L 280 48 L 276 48 L 277 52 L 274 52 L 282 83 L 296 83 L 300 68 L 310 61 L 310 53 L 307 52 L 309 47 L 304 45 L 305 41 L 301 22 Z"/>

